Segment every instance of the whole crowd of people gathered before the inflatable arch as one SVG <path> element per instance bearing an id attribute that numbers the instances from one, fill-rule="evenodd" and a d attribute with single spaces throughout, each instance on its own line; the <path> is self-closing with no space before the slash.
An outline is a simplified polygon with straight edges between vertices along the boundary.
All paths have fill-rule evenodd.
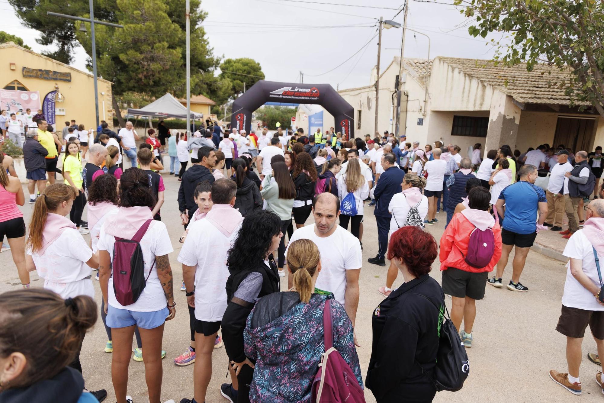
<path id="1" fill-rule="evenodd" d="M 194 364 L 193 396 L 181 403 L 206 401 L 213 351 L 222 346 L 231 380 L 220 393 L 231 402 L 312 401 L 318 364 L 330 347 L 343 359 L 353 388 L 370 389 L 378 402 L 400 396 L 432 401 L 445 294 L 452 298 L 460 343 L 470 348 L 476 300 L 484 298 L 487 283 L 503 287 L 512 250 L 507 289 L 528 291 L 520 277 L 540 230 L 569 239 L 557 326 L 568 339 L 568 373 L 552 370 L 551 378 L 580 394 L 588 324 L 604 353 L 604 285 L 599 268 L 594 271 L 598 253 L 604 254 L 604 201 L 597 194 L 590 202 L 600 193 L 601 147 L 588 154 L 544 144 L 515 155 L 507 145 L 483 154 L 475 144 L 462 156 L 455 144 L 435 141 L 422 149 L 388 132 L 349 140 L 333 128 L 306 135 L 280 127 L 271 134 L 264 127 L 247 134 L 207 121 L 187 137 L 161 122 L 157 132 L 142 136 L 132 122 L 116 133 L 104 121 L 86 131 L 72 120 L 60 138 L 43 117 L 36 126 L 29 130 L 27 123 L 21 132 L 33 204 L 27 231 L 18 208 L 26 202 L 21 182 L 0 153 L 0 236 L 8 239 L 24 288 L 0 295 L 0 306 L 10 312 L 10 318 L 0 314 L 0 360 L 12 366 L 0 372 L 0 399 L 50 402 L 56 394 L 42 395 L 54 382 L 69 384 L 69 402 L 103 401 L 105 390 L 84 388 L 79 359 L 86 329 L 100 311 L 118 403 L 132 403 L 130 358 L 144 362 L 149 401 L 161 401 L 164 326 L 176 317 L 179 286 L 161 221 L 165 154 L 169 176 L 179 182 L 179 289 L 191 336 L 174 363 Z M 126 158 L 131 167 L 124 167 Z M 373 311 L 371 359 L 362 379 L 355 323 L 367 320 L 357 317 L 365 204 L 373 207 L 378 238 L 368 263 L 385 266 L 388 259 L 390 266 L 377 290 L 385 299 Z M 446 212 L 445 231 L 437 241 L 426 228 L 439 222 L 440 211 Z M 568 230 L 562 231 L 564 214 Z M 429 276 L 437 257 L 440 284 Z M 28 289 L 31 271 L 45 290 Z M 403 282 L 396 287 L 399 272 Z M 100 283 L 100 309 L 92 300 L 93 277 Z M 281 277 L 288 277 L 286 289 Z M 32 317 L 36 334 L 21 327 Z M 31 349 L 45 338 L 44 349 Z M 46 354 L 44 367 L 34 364 L 39 353 Z M 599 354 L 590 357 L 599 363 Z M 602 386 L 601 375 L 597 381 Z"/>

